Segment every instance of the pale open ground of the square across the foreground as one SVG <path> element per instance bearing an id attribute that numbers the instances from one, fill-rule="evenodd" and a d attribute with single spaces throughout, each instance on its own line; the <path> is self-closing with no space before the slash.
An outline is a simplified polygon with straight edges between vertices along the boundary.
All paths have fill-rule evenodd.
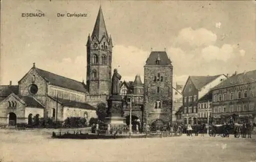
<path id="1" fill-rule="evenodd" d="M 223 137 L 52 139 L 51 131 L 1 130 L 0 161 L 253 161 L 256 140 Z"/>

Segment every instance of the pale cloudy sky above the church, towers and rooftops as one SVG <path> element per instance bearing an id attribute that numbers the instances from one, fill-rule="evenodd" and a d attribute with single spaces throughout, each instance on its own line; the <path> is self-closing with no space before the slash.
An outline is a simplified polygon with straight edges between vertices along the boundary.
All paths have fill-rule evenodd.
<path id="1" fill-rule="evenodd" d="M 122 80 L 143 81 L 151 52 L 166 51 L 174 83 L 256 70 L 256 1 L 1 1 L 0 84 L 36 67 L 86 80 L 87 37 L 101 4 Z M 43 12 L 45 17 L 22 17 Z M 57 13 L 87 17 L 57 17 Z"/>

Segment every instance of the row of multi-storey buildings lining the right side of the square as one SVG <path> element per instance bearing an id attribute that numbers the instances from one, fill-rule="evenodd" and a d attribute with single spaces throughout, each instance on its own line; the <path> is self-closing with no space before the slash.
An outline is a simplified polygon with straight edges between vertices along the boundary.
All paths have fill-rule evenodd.
<path id="1" fill-rule="evenodd" d="M 176 112 L 178 123 L 216 124 L 256 121 L 256 70 L 232 76 L 189 76 L 182 90 L 183 104 Z"/>

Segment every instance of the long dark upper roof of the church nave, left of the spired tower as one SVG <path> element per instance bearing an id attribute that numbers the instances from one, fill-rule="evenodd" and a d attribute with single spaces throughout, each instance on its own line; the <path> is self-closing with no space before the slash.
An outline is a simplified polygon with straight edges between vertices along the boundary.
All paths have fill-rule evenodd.
<path id="1" fill-rule="evenodd" d="M 46 81 L 48 81 L 51 85 L 72 89 L 80 92 L 87 92 L 86 84 L 84 84 L 83 82 L 62 77 L 57 74 L 47 72 L 36 67 L 35 69 L 39 73 L 39 75 L 43 77 Z"/>

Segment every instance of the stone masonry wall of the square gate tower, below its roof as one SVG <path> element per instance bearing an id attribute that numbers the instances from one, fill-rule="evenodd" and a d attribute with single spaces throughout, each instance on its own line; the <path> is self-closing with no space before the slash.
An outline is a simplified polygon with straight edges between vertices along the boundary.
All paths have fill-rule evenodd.
<path id="1" fill-rule="evenodd" d="M 158 73 L 163 77 L 162 81 L 154 81 Z M 144 66 L 144 108 L 148 114 L 148 122 L 155 119 L 161 119 L 166 123 L 172 121 L 172 84 L 172 66 Z M 155 108 L 157 101 L 160 101 L 160 108 Z"/>

